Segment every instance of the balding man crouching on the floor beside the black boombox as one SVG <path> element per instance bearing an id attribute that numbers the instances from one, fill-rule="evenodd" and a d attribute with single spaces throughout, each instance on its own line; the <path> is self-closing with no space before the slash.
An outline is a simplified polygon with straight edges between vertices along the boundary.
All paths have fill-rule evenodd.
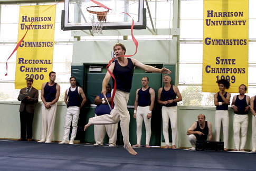
<path id="1" fill-rule="evenodd" d="M 192 150 L 195 150 L 196 141 L 212 140 L 212 124 L 210 121 L 205 121 L 203 114 L 198 115 L 198 121 L 194 122 L 187 130 L 188 140 L 192 145 Z"/>

